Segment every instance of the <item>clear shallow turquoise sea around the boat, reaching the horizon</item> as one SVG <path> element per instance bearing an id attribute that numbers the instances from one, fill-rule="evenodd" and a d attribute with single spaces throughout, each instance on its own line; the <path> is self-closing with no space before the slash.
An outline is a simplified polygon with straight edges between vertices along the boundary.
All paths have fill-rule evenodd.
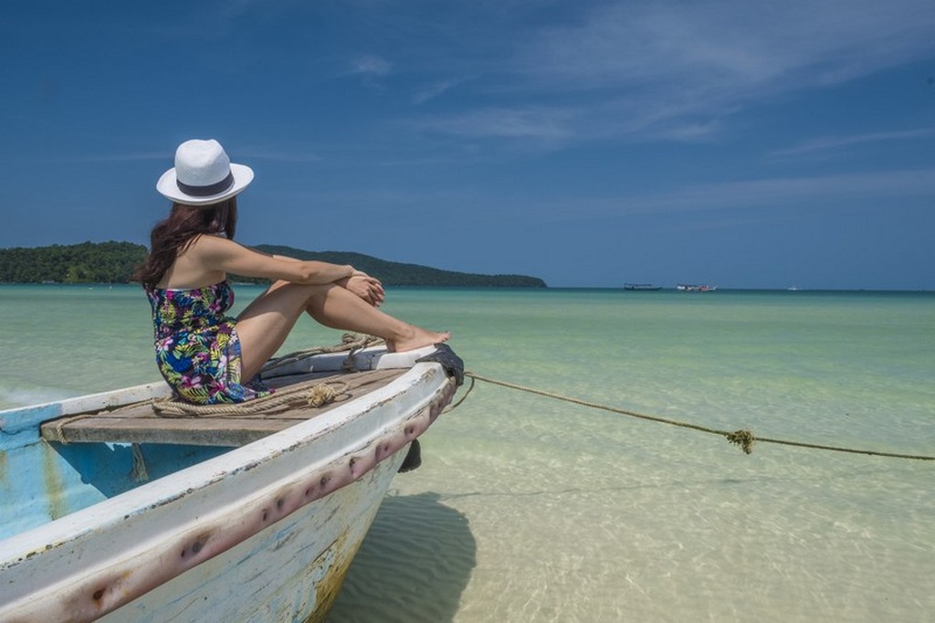
<path id="1" fill-rule="evenodd" d="M 237 287 L 238 307 L 257 294 Z M 935 294 L 393 289 L 469 370 L 760 437 L 935 455 Z M 333 344 L 300 326 L 283 351 Z M 137 287 L 0 286 L 0 409 L 158 378 Z M 476 384 L 329 620 L 928 621 L 935 461 Z"/>

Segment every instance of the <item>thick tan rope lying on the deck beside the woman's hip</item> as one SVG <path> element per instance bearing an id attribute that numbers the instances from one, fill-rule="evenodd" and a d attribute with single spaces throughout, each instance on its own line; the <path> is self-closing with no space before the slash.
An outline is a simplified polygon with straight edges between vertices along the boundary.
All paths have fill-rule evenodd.
<path id="1" fill-rule="evenodd" d="M 307 381 L 281 387 L 268 396 L 233 404 L 191 404 L 173 398 L 161 398 L 152 401 L 152 410 L 163 417 L 191 415 L 249 417 L 255 413 L 269 413 L 277 408 L 295 404 L 304 404 L 304 406 L 313 408 L 321 407 L 345 394 L 348 386 L 344 381 L 325 383 Z"/>

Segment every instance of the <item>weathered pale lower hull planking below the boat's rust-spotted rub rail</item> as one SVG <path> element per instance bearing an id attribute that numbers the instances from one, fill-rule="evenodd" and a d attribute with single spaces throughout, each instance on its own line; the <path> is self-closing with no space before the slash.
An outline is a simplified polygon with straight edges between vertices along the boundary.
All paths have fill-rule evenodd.
<path id="1" fill-rule="evenodd" d="M 100 620 L 323 620 L 402 457 L 398 453 L 383 461 L 362 479 L 298 509 Z"/>

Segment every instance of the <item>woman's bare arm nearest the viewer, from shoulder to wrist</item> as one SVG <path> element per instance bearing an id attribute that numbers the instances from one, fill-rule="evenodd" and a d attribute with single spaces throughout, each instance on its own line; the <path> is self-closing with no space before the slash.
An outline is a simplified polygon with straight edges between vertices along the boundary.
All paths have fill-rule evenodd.
<path id="1" fill-rule="evenodd" d="M 222 270 L 244 277 L 281 279 L 293 283 L 334 283 L 350 278 L 350 265 L 260 253 L 218 236 L 201 236 L 186 252 L 206 271 Z"/>

